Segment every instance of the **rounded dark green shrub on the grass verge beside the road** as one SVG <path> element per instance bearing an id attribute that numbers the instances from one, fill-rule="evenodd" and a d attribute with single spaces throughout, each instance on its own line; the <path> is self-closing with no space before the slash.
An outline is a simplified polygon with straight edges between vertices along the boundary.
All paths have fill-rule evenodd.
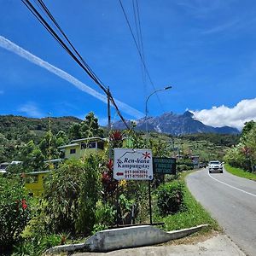
<path id="1" fill-rule="evenodd" d="M 184 184 L 179 181 L 160 185 L 157 189 L 157 206 L 161 216 L 183 211 Z"/>

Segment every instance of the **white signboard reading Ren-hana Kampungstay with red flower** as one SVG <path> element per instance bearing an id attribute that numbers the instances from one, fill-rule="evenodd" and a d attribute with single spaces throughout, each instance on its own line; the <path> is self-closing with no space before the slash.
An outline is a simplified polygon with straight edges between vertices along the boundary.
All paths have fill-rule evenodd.
<path id="1" fill-rule="evenodd" d="M 153 179 L 153 160 L 150 149 L 114 148 L 113 150 L 114 179 Z"/>

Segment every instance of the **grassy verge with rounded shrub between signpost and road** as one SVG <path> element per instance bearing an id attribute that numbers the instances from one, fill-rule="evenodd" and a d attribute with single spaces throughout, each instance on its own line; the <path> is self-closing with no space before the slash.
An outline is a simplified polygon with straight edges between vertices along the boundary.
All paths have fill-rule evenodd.
<path id="1" fill-rule="evenodd" d="M 162 187 L 156 192 L 160 206 L 155 211 L 159 213 L 155 217 L 155 221 L 165 223 L 164 229 L 166 231 L 187 229 L 200 224 L 209 224 L 207 230 L 220 230 L 218 223 L 211 218 L 210 214 L 189 192 L 184 181 L 188 173 L 180 173 L 177 179 L 161 185 Z M 168 196 L 163 196 L 162 190 Z M 172 198 L 171 201 L 170 198 Z M 162 211 L 161 208 L 163 206 L 169 206 L 170 209 L 175 209 L 175 211 L 168 211 L 167 209 Z M 165 212 L 168 212 L 168 214 Z"/>

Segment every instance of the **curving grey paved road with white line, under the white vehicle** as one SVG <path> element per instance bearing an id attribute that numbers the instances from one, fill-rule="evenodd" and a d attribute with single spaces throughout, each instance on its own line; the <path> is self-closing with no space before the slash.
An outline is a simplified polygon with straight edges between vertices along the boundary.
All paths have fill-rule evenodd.
<path id="1" fill-rule="evenodd" d="M 218 220 L 226 234 L 250 256 L 256 255 L 256 182 L 207 169 L 187 177 L 189 190 Z"/>

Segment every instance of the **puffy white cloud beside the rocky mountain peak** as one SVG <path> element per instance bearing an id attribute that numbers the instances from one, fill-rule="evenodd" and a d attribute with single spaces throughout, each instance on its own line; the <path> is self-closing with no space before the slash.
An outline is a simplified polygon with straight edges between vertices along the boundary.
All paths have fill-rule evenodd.
<path id="1" fill-rule="evenodd" d="M 200 120 L 205 125 L 214 127 L 227 125 L 241 130 L 245 122 L 256 120 L 256 98 L 242 100 L 234 108 L 222 105 L 211 109 L 189 111 L 194 113 L 195 119 Z"/>

